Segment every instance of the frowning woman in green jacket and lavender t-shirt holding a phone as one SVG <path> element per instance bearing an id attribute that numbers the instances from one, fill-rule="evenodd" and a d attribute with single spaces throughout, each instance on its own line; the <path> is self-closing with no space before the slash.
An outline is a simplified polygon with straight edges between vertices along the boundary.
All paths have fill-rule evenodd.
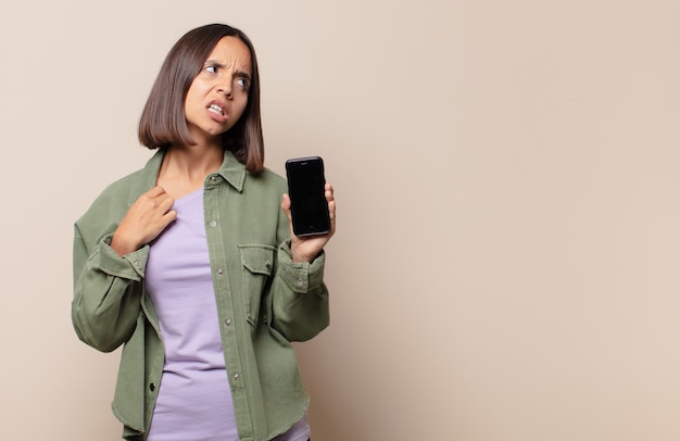
<path id="1" fill-rule="evenodd" d="M 249 38 L 227 25 L 169 51 L 139 125 L 158 149 L 76 222 L 78 337 L 124 344 L 113 412 L 123 438 L 310 438 L 291 341 L 328 326 L 324 245 L 292 234 L 285 180 L 264 168 Z"/>

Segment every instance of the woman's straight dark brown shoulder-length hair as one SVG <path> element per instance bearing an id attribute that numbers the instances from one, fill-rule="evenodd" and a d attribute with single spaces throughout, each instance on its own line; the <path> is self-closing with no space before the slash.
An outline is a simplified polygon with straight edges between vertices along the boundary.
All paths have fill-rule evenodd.
<path id="1" fill-rule="evenodd" d="M 260 75 L 255 49 L 245 34 L 224 24 L 210 24 L 185 34 L 168 52 L 139 121 L 139 141 L 149 149 L 193 146 L 185 115 L 185 99 L 203 63 L 223 37 L 237 37 L 249 49 L 252 73 L 248 104 L 239 121 L 222 135 L 249 172 L 264 168 L 264 139 L 260 116 Z"/>

